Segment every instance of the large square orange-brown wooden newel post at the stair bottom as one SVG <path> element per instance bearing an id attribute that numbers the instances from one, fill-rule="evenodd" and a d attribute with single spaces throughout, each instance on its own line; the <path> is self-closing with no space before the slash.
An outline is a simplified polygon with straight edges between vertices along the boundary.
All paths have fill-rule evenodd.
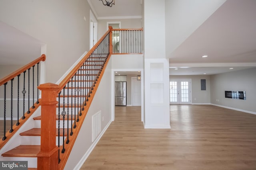
<path id="1" fill-rule="evenodd" d="M 56 147 L 56 101 L 58 85 L 40 84 L 41 99 L 41 149 L 37 154 L 38 170 L 58 170 L 58 147 Z"/>

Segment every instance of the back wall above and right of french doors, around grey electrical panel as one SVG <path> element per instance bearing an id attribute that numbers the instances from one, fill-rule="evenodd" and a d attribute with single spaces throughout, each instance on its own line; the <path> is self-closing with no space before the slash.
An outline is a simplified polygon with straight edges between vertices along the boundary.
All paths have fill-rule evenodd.
<path id="1" fill-rule="evenodd" d="M 210 76 L 170 76 L 170 78 L 191 78 L 192 104 L 210 104 Z M 201 79 L 206 79 L 206 90 L 201 90 Z"/>

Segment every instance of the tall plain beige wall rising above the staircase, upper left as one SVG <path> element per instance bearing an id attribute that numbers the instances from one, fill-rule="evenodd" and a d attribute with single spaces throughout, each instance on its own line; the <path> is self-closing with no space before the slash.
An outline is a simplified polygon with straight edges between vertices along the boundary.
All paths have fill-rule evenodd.
<path id="1" fill-rule="evenodd" d="M 0 0 L 0 20 L 47 45 L 46 82 L 55 83 L 89 51 L 86 0 Z"/>

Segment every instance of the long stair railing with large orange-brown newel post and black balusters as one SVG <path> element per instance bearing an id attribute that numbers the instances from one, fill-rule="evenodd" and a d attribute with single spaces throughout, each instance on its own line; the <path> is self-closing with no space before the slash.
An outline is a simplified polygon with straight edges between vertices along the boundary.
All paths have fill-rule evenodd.
<path id="1" fill-rule="evenodd" d="M 60 84 L 46 83 L 38 86 L 42 91 L 38 170 L 64 169 L 112 54 L 111 37 L 110 26 Z M 58 121 L 57 147 L 56 121 Z"/>

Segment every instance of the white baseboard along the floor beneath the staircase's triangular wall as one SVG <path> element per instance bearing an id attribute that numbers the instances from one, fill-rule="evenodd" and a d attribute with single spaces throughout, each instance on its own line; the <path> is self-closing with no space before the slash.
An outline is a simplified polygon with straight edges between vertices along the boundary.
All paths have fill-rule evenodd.
<path id="1" fill-rule="evenodd" d="M 94 149 L 94 147 L 97 145 L 98 141 L 100 141 L 100 138 L 103 136 L 103 134 L 105 133 L 105 131 L 108 129 L 109 125 L 111 124 L 112 121 L 109 121 L 108 124 L 106 125 L 106 127 L 102 130 L 102 132 L 100 133 L 100 135 L 98 135 L 98 137 L 95 139 L 95 141 L 92 143 L 92 145 L 90 146 L 90 148 L 86 151 L 86 153 L 84 154 L 84 156 L 80 159 L 80 161 L 78 162 L 78 164 L 74 167 L 74 170 L 79 170 L 82 165 L 84 164 L 84 162 L 86 161 L 86 159 L 88 158 L 88 156 L 90 155 L 90 153 L 92 152 L 92 150 Z"/>

